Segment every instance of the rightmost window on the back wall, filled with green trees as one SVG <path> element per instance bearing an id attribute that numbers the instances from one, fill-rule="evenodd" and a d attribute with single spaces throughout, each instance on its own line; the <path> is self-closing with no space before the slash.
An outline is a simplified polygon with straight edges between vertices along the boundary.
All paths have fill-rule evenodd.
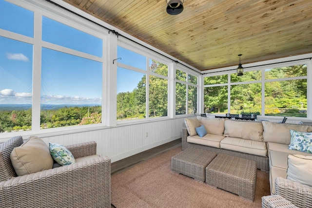
<path id="1" fill-rule="evenodd" d="M 265 70 L 265 115 L 307 117 L 307 65 Z"/>

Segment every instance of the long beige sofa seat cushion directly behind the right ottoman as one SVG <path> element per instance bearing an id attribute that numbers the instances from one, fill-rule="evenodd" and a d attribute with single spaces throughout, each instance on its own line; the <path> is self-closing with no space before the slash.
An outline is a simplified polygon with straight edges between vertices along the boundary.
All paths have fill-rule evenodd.
<path id="1" fill-rule="evenodd" d="M 264 157 L 267 156 L 267 147 L 265 142 L 248 139 L 225 137 L 220 142 L 220 148 Z"/>

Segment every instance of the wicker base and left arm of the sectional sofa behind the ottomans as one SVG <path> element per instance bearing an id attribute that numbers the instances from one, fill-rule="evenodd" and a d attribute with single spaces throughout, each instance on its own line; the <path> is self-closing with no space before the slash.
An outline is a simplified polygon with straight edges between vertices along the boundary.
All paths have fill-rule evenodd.
<path id="1" fill-rule="evenodd" d="M 262 157 L 262 156 L 247 154 L 247 153 L 238 152 L 238 151 L 224 150 L 224 149 L 209 147 L 205 145 L 188 143 L 187 142 L 188 136 L 189 136 L 189 133 L 187 132 L 187 129 L 182 128 L 182 150 L 186 150 L 187 148 L 193 147 L 193 148 L 198 148 L 198 149 L 203 149 L 203 150 L 208 150 L 208 151 L 215 151 L 216 153 L 228 154 L 228 155 L 232 155 L 235 157 L 240 157 L 240 158 L 244 158 L 248 160 L 254 160 L 257 163 L 257 169 L 260 169 L 266 172 L 270 171 L 269 157 Z"/>

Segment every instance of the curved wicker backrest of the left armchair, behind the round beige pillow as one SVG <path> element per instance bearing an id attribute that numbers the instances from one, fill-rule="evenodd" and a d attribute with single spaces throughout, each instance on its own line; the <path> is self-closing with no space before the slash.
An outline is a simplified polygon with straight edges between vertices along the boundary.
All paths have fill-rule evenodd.
<path id="1" fill-rule="evenodd" d="M 21 136 L 12 137 L 0 144 L 0 182 L 17 176 L 11 163 L 10 154 L 14 148 L 20 147 L 22 144 Z"/>

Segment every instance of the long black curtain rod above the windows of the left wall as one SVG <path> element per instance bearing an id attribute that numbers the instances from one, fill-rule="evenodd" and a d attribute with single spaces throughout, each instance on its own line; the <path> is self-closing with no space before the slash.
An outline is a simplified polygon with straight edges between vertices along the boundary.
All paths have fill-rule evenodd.
<path id="1" fill-rule="evenodd" d="M 56 6 L 58 6 L 58 7 L 60 7 L 60 8 L 62 8 L 62 9 L 64 9 L 64 10 L 66 10 L 66 11 L 68 11 L 68 12 L 74 14 L 74 15 L 77 15 L 78 17 L 80 17 L 80 18 L 82 18 L 82 19 L 86 19 L 86 20 L 88 20 L 88 21 L 90 21 L 90 22 L 92 22 L 92 23 L 94 23 L 94 24 L 96 24 L 96 25 L 98 25 L 98 26 L 100 26 L 100 27 L 102 27 L 102 28 L 105 28 L 106 30 L 108 30 L 108 33 L 112 32 L 112 33 L 114 33 L 115 35 L 117 35 L 117 38 L 118 38 L 118 36 L 121 36 L 121 37 L 126 38 L 126 39 L 128 39 L 128 40 L 131 40 L 132 42 L 135 42 L 135 43 L 137 43 L 137 44 L 140 45 L 140 46 L 143 46 L 143 47 L 145 47 L 145 48 L 147 48 L 147 49 L 149 49 L 149 50 L 151 50 L 151 51 L 153 51 L 153 52 L 155 52 L 155 53 L 157 53 L 157 54 L 159 54 L 159 55 L 161 55 L 161 56 L 163 56 L 163 57 L 166 57 L 166 58 L 172 60 L 173 62 L 179 63 L 179 64 L 181 64 L 181 65 L 183 65 L 183 66 L 185 66 L 185 67 L 187 67 L 187 68 L 193 70 L 194 72 L 196 72 L 196 73 L 202 75 L 200 72 L 197 72 L 196 70 L 194 70 L 194 69 L 192 69 L 192 68 L 190 68 L 190 67 L 184 65 L 183 63 L 180 63 L 180 62 L 178 62 L 177 60 L 174 60 L 174 59 L 172 59 L 172 58 L 170 58 L 170 57 L 167 57 L 167 56 L 165 56 L 165 55 L 163 55 L 163 54 L 161 54 L 161 53 L 159 53 L 159 52 L 157 52 L 157 51 L 155 51 L 155 50 L 153 50 L 153 49 L 150 49 L 149 47 L 147 47 L 147 46 L 145 46 L 145 45 L 143 45 L 143 44 L 141 44 L 141 43 L 138 43 L 137 41 L 135 41 L 135 40 L 133 40 L 133 39 L 130 39 L 130 38 L 128 38 L 128 37 L 125 37 L 125 36 L 121 35 L 120 33 L 116 32 L 115 30 L 109 29 L 109 28 L 105 27 L 104 25 L 99 24 L 98 22 L 95 22 L 95 21 L 93 21 L 93 20 L 91 20 L 91 19 L 89 19 L 89 18 L 86 18 L 86 17 L 84 17 L 84 16 L 82 16 L 82 15 L 79 15 L 78 13 L 76 13 L 76 12 L 74 12 L 74 11 L 71 11 L 70 9 L 67 9 L 67 8 L 64 7 L 64 6 L 61 6 L 61 5 L 59 5 L 58 3 L 56 3 L 56 2 L 54 2 L 54 1 L 52 1 L 52 0 L 45 0 L 45 1 L 48 1 L 48 2 L 50 2 L 50 3 L 52 3 L 52 4 L 56 5 Z"/>

